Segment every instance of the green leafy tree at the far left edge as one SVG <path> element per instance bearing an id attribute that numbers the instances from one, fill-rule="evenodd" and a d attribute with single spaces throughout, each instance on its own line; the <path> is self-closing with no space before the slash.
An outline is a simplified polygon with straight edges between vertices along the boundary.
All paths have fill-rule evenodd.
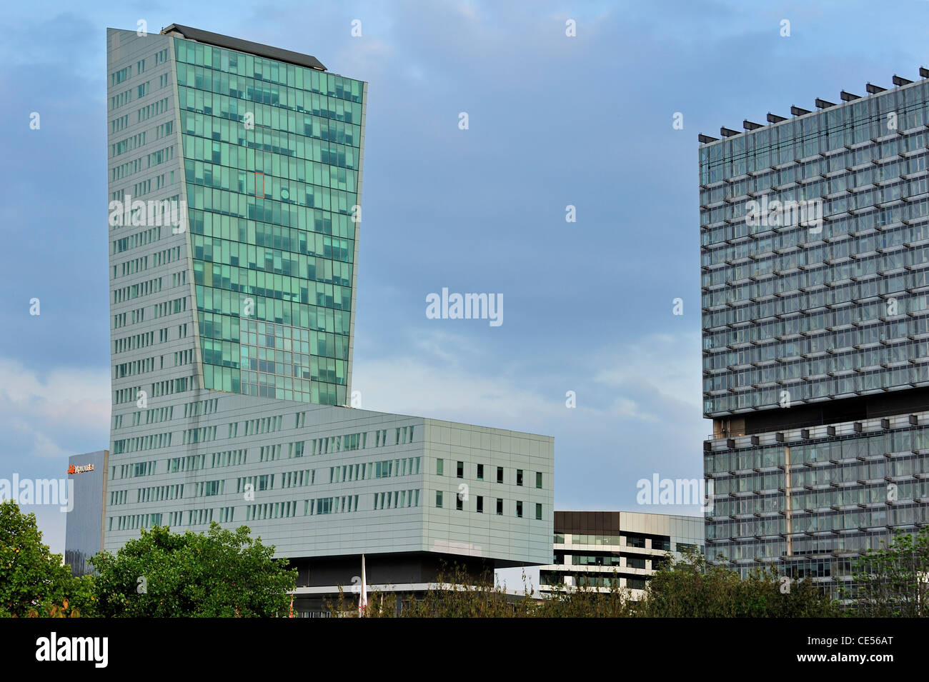
<path id="1" fill-rule="evenodd" d="M 42 542 L 35 514 L 0 503 L 0 616 L 92 615 L 92 578 L 75 578 Z"/>

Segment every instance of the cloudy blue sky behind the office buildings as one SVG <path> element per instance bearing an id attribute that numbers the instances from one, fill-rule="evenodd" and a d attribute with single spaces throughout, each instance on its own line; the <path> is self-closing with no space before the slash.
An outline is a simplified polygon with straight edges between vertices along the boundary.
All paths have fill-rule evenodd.
<path id="1" fill-rule="evenodd" d="M 926 19 L 922 0 L 5 7 L 0 479 L 64 478 L 109 443 L 107 27 L 184 24 L 368 81 L 365 409 L 554 436 L 556 509 L 699 514 L 636 501 L 640 479 L 700 478 L 712 431 L 697 135 L 918 78 Z M 503 324 L 430 319 L 443 288 L 502 296 Z M 62 552 L 65 514 L 29 510 Z"/>

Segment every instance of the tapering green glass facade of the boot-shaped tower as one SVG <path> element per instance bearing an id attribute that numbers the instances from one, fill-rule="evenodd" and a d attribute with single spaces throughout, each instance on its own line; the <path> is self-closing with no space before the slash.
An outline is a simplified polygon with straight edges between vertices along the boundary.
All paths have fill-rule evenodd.
<path id="1" fill-rule="evenodd" d="M 345 405 L 364 84 L 174 46 L 203 388 Z"/>

